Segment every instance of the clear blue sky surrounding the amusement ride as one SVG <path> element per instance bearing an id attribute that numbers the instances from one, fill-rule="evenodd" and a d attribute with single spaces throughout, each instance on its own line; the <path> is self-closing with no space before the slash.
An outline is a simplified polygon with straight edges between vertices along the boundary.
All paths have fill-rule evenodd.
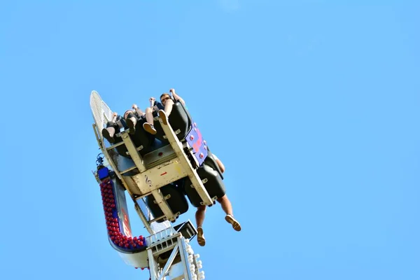
<path id="1" fill-rule="evenodd" d="M 89 96 L 171 87 L 243 228 L 207 211 L 207 279 L 420 279 L 420 4 L 285 2 L 3 1 L 1 279 L 148 279 L 106 239 Z"/>

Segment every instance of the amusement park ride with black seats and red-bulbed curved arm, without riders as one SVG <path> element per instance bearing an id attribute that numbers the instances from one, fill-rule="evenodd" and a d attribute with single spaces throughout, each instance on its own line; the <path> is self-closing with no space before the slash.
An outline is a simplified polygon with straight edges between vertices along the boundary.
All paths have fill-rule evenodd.
<path id="1" fill-rule="evenodd" d="M 96 91 L 90 94 L 90 107 L 102 151 L 93 173 L 102 194 L 109 243 L 127 265 L 149 269 L 151 280 L 204 279 L 200 255 L 190 245 L 196 228 L 190 221 L 173 225 L 188 211 L 188 201 L 194 207 L 211 207 L 225 194 L 221 170 L 197 124 L 176 102 L 167 120 L 157 112 L 153 115 L 156 134 L 146 132 L 139 119 L 135 131 L 123 128 L 110 144 L 102 130 L 113 111 Z M 132 235 L 126 194 L 148 237 Z"/>

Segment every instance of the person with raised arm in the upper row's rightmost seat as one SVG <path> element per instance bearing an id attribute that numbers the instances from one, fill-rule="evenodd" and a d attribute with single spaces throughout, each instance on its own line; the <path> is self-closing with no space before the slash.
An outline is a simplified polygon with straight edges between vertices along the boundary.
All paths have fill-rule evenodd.
<path id="1" fill-rule="evenodd" d="M 164 125 L 167 125 L 169 115 L 172 112 L 172 107 L 174 106 L 176 100 L 179 100 L 183 106 L 186 106 L 186 102 L 184 102 L 183 99 L 179 97 L 178 94 L 176 94 L 173 88 L 170 89 L 169 92 L 172 93 L 172 97 L 166 92 L 160 95 L 160 102 L 165 107 L 160 108 L 159 116 L 162 119 Z M 146 121 L 147 123 L 143 124 L 144 130 L 151 134 L 156 134 L 155 127 L 153 127 L 153 111 L 150 108 L 146 109 Z"/>

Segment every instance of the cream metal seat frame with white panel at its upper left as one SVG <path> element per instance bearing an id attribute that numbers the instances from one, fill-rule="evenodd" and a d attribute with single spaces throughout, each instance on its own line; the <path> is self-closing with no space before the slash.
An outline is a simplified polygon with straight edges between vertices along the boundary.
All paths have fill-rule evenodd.
<path id="1" fill-rule="evenodd" d="M 165 151 L 165 158 L 168 157 L 166 162 L 159 159 L 155 152 L 152 152 L 151 155 L 148 155 L 148 157 L 146 155 L 145 157 L 150 160 L 148 164 L 148 162 L 146 162 L 146 160 L 141 157 L 136 146 L 134 146 L 132 140 L 130 139 L 129 131 L 126 130 L 120 132 L 123 143 L 126 146 L 127 151 L 130 154 L 130 157 L 136 168 L 132 166 L 125 167 L 123 170 L 119 170 L 118 156 L 111 158 L 109 148 L 112 146 L 106 148 L 104 139 L 102 139 L 101 132 L 106 122 L 112 117 L 112 111 L 109 109 L 109 106 L 107 106 L 105 102 L 102 101 L 99 93 L 96 91 L 93 91 L 91 94 L 91 107 L 96 123 L 96 125 L 94 125 L 94 130 L 95 134 L 97 135 L 99 147 L 101 148 L 102 153 L 104 153 L 105 158 L 111 165 L 113 171 L 116 172 L 118 178 L 123 181 L 123 185 L 125 186 L 127 192 L 130 193 L 130 196 L 133 200 L 136 200 L 137 196 L 144 196 L 148 194 L 153 195 L 155 202 L 159 204 L 160 209 L 165 215 L 165 220 L 174 221 L 176 219 L 176 214 L 172 213 L 165 200 L 165 197 L 163 197 L 162 193 L 160 193 L 159 188 L 167 185 L 168 183 L 172 183 L 178 179 L 188 176 L 193 183 L 195 190 L 197 190 L 197 193 L 202 198 L 202 204 L 211 205 L 214 203 L 214 200 L 211 199 L 209 193 L 207 193 L 207 190 L 204 188 L 204 184 L 198 176 L 196 169 L 193 168 L 193 165 L 191 165 L 191 162 L 186 155 L 186 152 L 183 150 L 183 144 L 181 144 L 179 139 L 176 137 L 176 134 L 174 130 L 172 130 L 172 127 L 169 123 L 164 125 L 162 120 L 158 118 L 162 125 L 162 129 L 164 130 L 167 139 L 169 140 L 168 146 L 159 149 L 162 150 L 162 153 Z M 99 127 L 99 125 L 102 125 L 102 127 Z M 172 148 L 172 151 L 168 151 L 169 146 Z M 195 157 L 191 156 L 190 158 Z M 161 163 L 158 164 L 159 162 Z M 151 167 L 147 168 L 148 165 Z M 127 172 L 135 171 L 135 169 L 138 170 L 139 174 L 134 176 L 122 176 L 122 173 L 126 174 Z M 147 221 L 147 217 L 141 217 L 141 221 Z M 147 224 L 148 225 L 146 225 L 146 228 L 148 228 L 150 233 L 153 233 L 154 231 L 151 229 L 150 221 L 148 221 Z"/>

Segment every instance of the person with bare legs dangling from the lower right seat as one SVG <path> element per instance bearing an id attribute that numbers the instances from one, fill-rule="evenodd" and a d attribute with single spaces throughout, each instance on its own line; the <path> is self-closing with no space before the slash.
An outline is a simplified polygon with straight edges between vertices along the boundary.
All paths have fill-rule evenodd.
<path id="1" fill-rule="evenodd" d="M 221 172 L 225 172 L 225 165 L 223 162 L 217 158 L 215 154 L 213 154 L 214 160 L 216 160 L 218 167 L 221 169 Z M 217 202 L 221 204 L 223 211 L 225 211 L 225 220 L 232 225 L 232 228 L 236 231 L 241 231 L 241 225 L 239 222 L 233 217 L 233 210 L 232 204 L 228 199 L 228 195 L 223 195 L 223 197 L 218 198 Z M 206 239 L 204 238 L 204 232 L 202 225 L 204 223 L 204 214 L 206 213 L 206 205 L 201 205 L 197 208 L 195 212 L 195 222 L 197 223 L 197 242 L 200 246 L 206 245 Z"/>

